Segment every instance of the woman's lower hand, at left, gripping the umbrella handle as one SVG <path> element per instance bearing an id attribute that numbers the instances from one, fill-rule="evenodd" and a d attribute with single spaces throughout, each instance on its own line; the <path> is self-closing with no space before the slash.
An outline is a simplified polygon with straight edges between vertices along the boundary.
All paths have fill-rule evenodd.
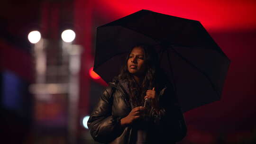
<path id="1" fill-rule="evenodd" d="M 121 126 L 126 126 L 131 124 L 134 120 L 138 119 L 143 115 L 145 111 L 144 107 L 136 107 L 131 110 L 128 116 L 121 119 Z"/>

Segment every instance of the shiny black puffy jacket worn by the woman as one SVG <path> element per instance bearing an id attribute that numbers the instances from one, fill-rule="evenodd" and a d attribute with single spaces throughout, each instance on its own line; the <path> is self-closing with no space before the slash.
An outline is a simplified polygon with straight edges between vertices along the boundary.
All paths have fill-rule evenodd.
<path id="1" fill-rule="evenodd" d="M 160 112 L 150 109 L 150 143 L 175 144 L 186 135 L 183 114 L 167 85 L 159 90 Z M 103 90 L 98 104 L 88 120 L 93 139 L 108 144 L 133 144 L 133 125 L 122 127 L 120 119 L 130 111 L 129 96 L 118 81 Z"/>

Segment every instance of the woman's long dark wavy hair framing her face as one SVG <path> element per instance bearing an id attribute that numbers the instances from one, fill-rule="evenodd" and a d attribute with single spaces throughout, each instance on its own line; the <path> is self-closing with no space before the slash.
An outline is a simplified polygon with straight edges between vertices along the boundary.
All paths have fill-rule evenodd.
<path id="1" fill-rule="evenodd" d="M 129 54 L 135 47 L 141 47 L 144 50 L 144 61 L 146 64 L 146 72 L 143 78 L 143 81 L 141 85 L 135 81 L 133 78 L 133 75 L 128 71 L 128 59 Z M 155 52 L 155 49 L 153 46 L 150 45 L 135 45 L 130 50 L 125 64 L 121 69 L 121 72 L 119 74 L 119 80 L 126 81 L 128 83 L 128 89 L 130 93 L 130 101 L 135 107 L 143 106 L 144 103 L 144 97 L 146 96 L 146 90 L 152 90 L 153 87 L 157 89 L 156 87 L 156 79 L 158 78 L 158 55 Z"/>

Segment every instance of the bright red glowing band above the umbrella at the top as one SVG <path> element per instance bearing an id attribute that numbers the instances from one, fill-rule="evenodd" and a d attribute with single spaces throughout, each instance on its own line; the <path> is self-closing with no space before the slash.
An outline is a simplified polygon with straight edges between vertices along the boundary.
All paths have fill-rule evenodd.
<path id="1" fill-rule="evenodd" d="M 255 29 L 255 0 L 96 0 L 97 9 L 108 21 L 141 9 L 194 19 L 207 30 Z"/>

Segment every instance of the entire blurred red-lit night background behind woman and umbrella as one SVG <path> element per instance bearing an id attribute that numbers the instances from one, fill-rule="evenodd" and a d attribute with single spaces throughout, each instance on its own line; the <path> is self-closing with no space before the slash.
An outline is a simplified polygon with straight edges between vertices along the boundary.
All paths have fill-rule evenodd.
<path id="1" fill-rule="evenodd" d="M 199 20 L 231 60 L 222 99 L 184 114 L 179 144 L 256 144 L 255 0 L 1 0 L 0 144 L 98 144 L 96 27 L 141 9 Z"/>

